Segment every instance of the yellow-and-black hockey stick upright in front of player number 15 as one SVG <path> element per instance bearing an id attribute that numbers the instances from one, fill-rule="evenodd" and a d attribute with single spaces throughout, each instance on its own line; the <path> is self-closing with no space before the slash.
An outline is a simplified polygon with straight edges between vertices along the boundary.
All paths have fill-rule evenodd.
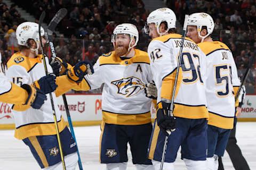
<path id="1" fill-rule="evenodd" d="M 43 48 L 43 43 L 42 43 L 42 38 L 41 38 L 41 25 L 42 25 L 42 22 L 44 20 L 44 17 L 45 17 L 45 11 L 42 12 L 42 14 L 40 15 L 40 18 L 39 18 L 38 33 L 39 33 L 40 44 L 41 44 L 41 47 L 42 47 L 44 70 L 45 70 L 45 74 L 47 75 L 48 74 L 48 70 L 47 70 L 47 66 L 46 66 L 45 55 L 44 55 L 44 48 Z M 50 92 L 50 99 L 51 99 L 51 104 L 52 104 L 52 112 L 53 112 L 53 117 L 54 117 L 54 124 L 55 124 L 55 128 L 56 128 L 58 144 L 59 144 L 59 148 L 60 148 L 61 162 L 62 162 L 63 170 L 66 170 L 65 161 L 64 161 L 64 157 L 63 157 L 62 146 L 61 146 L 61 142 L 60 142 L 60 132 L 59 132 L 59 128 L 58 128 L 58 122 L 57 122 L 57 117 L 56 117 L 56 113 L 55 113 L 55 107 L 54 107 L 54 103 L 53 103 L 53 98 L 52 98 L 52 93 L 51 92 Z"/>

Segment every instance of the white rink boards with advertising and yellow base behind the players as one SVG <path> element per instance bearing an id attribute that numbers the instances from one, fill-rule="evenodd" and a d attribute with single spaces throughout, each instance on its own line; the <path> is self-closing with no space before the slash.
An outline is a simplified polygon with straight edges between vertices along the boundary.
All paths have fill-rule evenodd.
<path id="1" fill-rule="evenodd" d="M 101 94 L 67 94 L 69 112 L 73 126 L 99 125 L 101 123 Z M 66 109 L 62 97 L 58 97 L 57 105 L 67 121 Z M 155 109 L 151 107 L 155 117 Z M 247 95 L 238 121 L 256 121 L 256 95 Z M 0 102 L 0 129 L 14 129 L 14 120 L 9 105 Z"/>

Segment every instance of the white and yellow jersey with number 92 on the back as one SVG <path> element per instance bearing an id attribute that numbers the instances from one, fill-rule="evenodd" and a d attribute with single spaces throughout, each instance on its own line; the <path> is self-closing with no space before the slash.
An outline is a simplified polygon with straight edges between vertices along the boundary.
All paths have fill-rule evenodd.
<path id="1" fill-rule="evenodd" d="M 170 33 L 153 39 L 148 46 L 150 66 L 157 87 L 157 103 L 172 99 L 181 35 Z M 203 81 L 205 54 L 188 38 L 184 41 L 181 67 L 174 99 L 173 115 L 184 118 L 208 118 Z M 202 75 L 201 75 L 202 74 Z"/>

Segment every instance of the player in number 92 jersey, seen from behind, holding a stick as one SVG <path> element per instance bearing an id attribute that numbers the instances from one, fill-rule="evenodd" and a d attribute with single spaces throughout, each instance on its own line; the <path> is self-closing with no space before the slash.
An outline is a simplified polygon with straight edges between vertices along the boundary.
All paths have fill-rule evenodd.
<path id="1" fill-rule="evenodd" d="M 146 32 L 153 38 L 148 46 L 150 67 L 157 87 L 157 116 L 149 144 L 149 158 L 155 169 L 161 165 L 166 130 L 169 135 L 163 169 L 174 169 L 181 146 L 187 169 L 206 169 L 207 118 L 202 50 L 185 38 L 175 93 L 173 116 L 167 116 L 177 72 L 182 36 L 175 33 L 176 16 L 169 8 L 159 8 L 147 18 Z M 148 30 L 148 31 L 147 31 Z"/>

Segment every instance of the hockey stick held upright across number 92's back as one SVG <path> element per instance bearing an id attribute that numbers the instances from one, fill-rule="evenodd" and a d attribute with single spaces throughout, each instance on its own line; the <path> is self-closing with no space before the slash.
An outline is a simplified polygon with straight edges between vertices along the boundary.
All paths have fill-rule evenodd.
<path id="1" fill-rule="evenodd" d="M 175 97 L 175 91 L 176 91 L 178 76 L 179 76 L 180 63 L 181 63 L 181 57 L 182 57 L 182 49 L 183 49 L 183 44 L 184 44 L 184 40 L 185 40 L 185 36 L 186 36 L 186 32 L 187 32 L 187 22 L 188 22 L 188 15 L 185 15 L 185 21 L 184 21 L 183 31 L 182 31 L 180 53 L 179 53 L 179 57 L 178 57 L 177 72 L 176 72 L 176 75 L 175 75 L 175 80 L 174 80 L 174 85 L 173 85 L 173 92 L 172 92 L 172 101 L 171 101 L 170 111 L 168 112 L 168 116 L 173 116 L 174 97 Z M 174 130 L 171 130 L 171 131 L 174 131 Z M 170 135 L 172 133 L 171 131 L 167 130 L 167 133 L 169 133 L 169 135 Z M 163 170 L 165 153 L 166 153 L 166 148 L 167 148 L 167 142 L 168 142 L 168 136 L 165 137 L 165 141 L 164 141 L 164 148 L 163 148 L 160 170 Z"/>

